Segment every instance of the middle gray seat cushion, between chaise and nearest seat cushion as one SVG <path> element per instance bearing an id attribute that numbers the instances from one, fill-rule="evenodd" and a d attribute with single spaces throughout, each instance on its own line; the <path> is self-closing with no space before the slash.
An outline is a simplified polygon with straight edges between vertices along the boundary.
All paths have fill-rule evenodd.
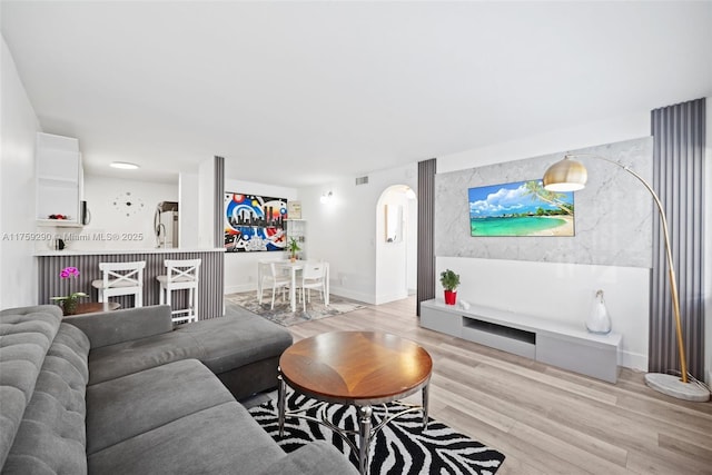
<path id="1" fill-rule="evenodd" d="M 230 393 L 197 359 L 89 386 L 87 454 L 230 400 Z"/>

